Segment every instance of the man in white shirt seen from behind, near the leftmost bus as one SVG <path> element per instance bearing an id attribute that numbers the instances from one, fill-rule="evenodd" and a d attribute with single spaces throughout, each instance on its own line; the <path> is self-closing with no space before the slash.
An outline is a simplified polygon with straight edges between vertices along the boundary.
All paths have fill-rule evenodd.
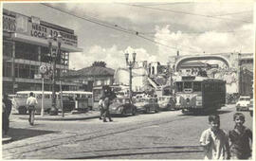
<path id="1" fill-rule="evenodd" d="M 34 98 L 34 94 L 30 92 L 29 98 L 27 98 L 27 110 L 29 114 L 28 122 L 30 125 L 34 125 L 35 118 L 35 106 L 37 105 L 37 100 Z"/>

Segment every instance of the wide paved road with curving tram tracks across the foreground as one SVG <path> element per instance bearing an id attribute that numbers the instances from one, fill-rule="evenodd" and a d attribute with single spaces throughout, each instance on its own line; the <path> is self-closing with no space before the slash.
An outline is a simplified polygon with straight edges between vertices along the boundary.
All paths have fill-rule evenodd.
<path id="1" fill-rule="evenodd" d="M 234 106 L 218 112 L 221 128 L 233 128 Z M 247 112 L 246 126 L 252 128 Z M 3 146 L 12 159 L 201 159 L 198 139 L 208 128 L 208 116 L 185 116 L 180 111 L 79 121 L 36 121 L 35 126 L 12 116 L 9 133 L 17 135 Z"/>

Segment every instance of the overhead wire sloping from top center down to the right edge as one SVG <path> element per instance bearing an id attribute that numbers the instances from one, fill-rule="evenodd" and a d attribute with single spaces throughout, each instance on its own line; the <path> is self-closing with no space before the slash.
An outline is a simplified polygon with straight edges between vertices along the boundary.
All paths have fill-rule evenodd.
<path id="1" fill-rule="evenodd" d="M 117 4 L 124 5 L 124 6 L 137 7 L 137 8 L 144 8 L 144 9 L 155 9 L 155 10 L 160 10 L 160 11 L 168 11 L 168 12 L 187 14 L 187 15 L 193 15 L 193 16 L 201 16 L 201 17 L 207 17 L 207 18 L 219 19 L 219 20 L 229 20 L 229 21 L 239 21 L 239 22 L 244 22 L 244 23 L 252 23 L 250 21 L 245 21 L 245 20 L 236 20 L 236 19 L 230 19 L 230 18 L 215 17 L 215 16 L 211 16 L 211 15 L 197 14 L 197 13 L 178 11 L 178 10 L 173 10 L 173 9 L 159 9 L 159 8 L 152 8 L 152 7 L 139 6 L 139 5 L 129 5 L 129 4 L 123 4 L 123 3 L 117 3 Z"/>

